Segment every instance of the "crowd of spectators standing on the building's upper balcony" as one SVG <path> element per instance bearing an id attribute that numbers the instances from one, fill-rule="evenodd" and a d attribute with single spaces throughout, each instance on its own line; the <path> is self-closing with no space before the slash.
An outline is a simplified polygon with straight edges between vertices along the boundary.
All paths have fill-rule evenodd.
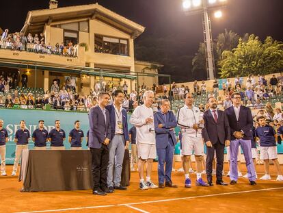
<path id="1" fill-rule="evenodd" d="M 9 34 L 9 30 L 5 29 L 1 35 L 0 48 L 12 49 L 18 51 L 32 51 L 35 53 L 46 53 L 77 57 L 78 45 L 73 45 L 71 40 L 66 40 L 66 44 L 57 43 L 54 47 L 46 44 L 44 34 L 34 36 L 30 33 L 26 36 L 23 33 Z"/>

